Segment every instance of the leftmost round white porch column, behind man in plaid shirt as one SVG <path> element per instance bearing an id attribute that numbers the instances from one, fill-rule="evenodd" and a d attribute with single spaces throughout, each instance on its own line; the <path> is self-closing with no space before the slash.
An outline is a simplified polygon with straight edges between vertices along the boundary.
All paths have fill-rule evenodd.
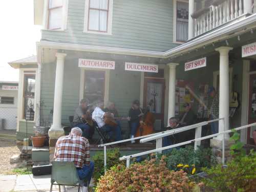
<path id="1" fill-rule="evenodd" d="M 61 127 L 61 103 L 62 103 L 62 88 L 63 88 L 63 73 L 64 60 L 67 54 L 56 53 L 56 75 L 54 89 L 54 104 L 53 104 L 53 123 L 51 130 L 62 130 Z"/>

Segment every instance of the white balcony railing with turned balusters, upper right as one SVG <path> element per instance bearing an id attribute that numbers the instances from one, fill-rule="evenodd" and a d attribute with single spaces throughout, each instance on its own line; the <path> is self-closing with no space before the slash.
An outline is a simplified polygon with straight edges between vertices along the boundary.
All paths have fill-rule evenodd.
<path id="1" fill-rule="evenodd" d="M 249 11 L 245 10 L 248 6 Z M 211 6 L 191 15 L 194 37 L 238 19 L 247 12 L 256 12 L 256 0 L 216 0 Z"/>

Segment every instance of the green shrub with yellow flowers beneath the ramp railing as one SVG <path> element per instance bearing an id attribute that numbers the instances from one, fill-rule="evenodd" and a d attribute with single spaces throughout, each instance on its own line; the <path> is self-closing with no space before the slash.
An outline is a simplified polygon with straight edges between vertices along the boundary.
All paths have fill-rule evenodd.
<path id="1" fill-rule="evenodd" d="M 192 173 L 194 167 L 198 173 L 201 171 L 202 167 L 210 167 L 217 164 L 216 158 L 211 152 L 211 148 L 199 147 L 194 151 L 193 146 L 186 146 L 179 150 L 174 148 L 172 151 L 163 153 L 163 155 L 166 156 L 166 166 L 170 170 L 180 170 L 182 168 L 181 165 L 188 165 L 188 167 L 184 168 L 186 168 L 186 172 L 189 175 Z M 161 157 L 158 159 L 161 159 Z"/>

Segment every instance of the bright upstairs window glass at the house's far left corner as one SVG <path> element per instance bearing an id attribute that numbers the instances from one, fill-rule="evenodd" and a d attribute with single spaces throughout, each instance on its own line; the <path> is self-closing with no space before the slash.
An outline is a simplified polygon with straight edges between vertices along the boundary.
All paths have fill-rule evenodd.
<path id="1" fill-rule="evenodd" d="M 48 5 L 48 29 L 57 30 L 63 24 L 63 0 L 49 0 Z"/>

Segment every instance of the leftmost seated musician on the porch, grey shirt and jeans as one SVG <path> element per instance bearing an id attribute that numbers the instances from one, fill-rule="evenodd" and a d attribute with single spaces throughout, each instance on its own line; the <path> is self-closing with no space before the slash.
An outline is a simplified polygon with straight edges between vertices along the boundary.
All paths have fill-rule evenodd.
<path id="1" fill-rule="evenodd" d="M 74 113 L 73 124 L 82 130 L 83 137 L 91 139 L 94 134 L 94 127 L 91 123 L 86 122 L 86 119 L 89 118 L 87 116 L 90 116 L 88 110 L 88 101 L 86 99 L 81 99 L 80 105 Z"/>

